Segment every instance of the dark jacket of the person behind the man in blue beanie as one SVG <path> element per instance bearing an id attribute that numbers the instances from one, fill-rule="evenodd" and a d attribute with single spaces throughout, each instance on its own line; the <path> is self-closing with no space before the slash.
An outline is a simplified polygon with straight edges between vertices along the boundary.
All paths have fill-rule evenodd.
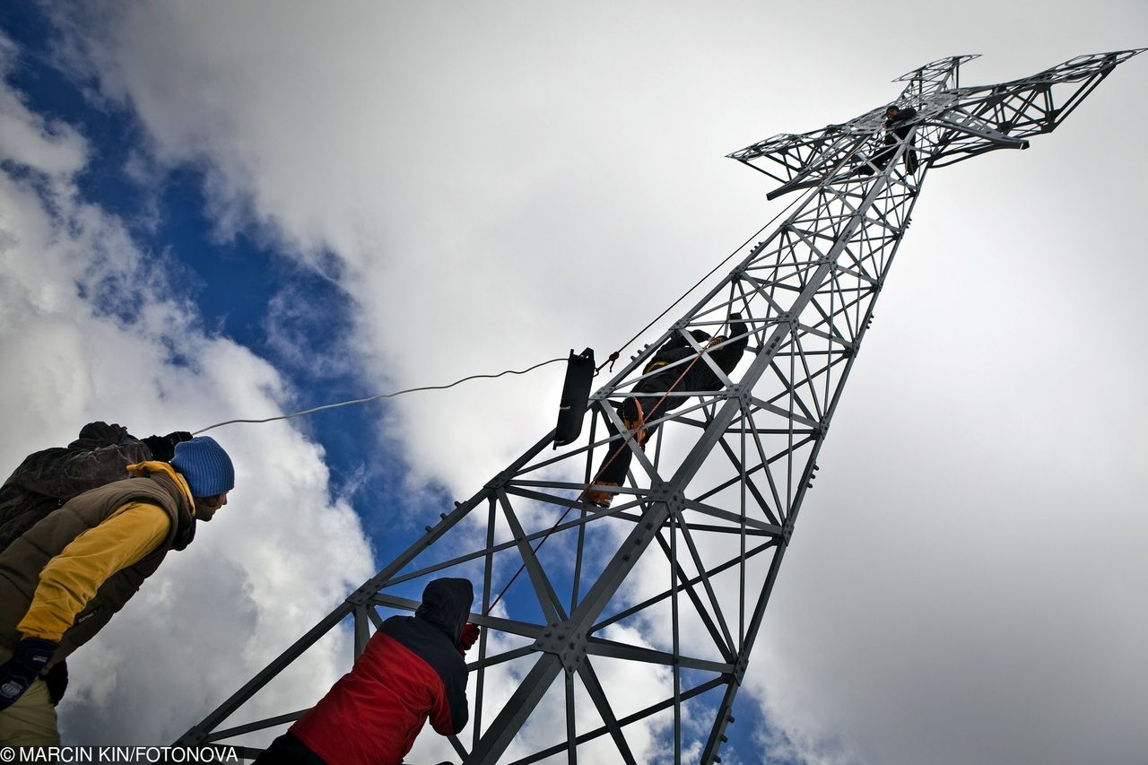
<path id="1" fill-rule="evenodd" d="M 0 486 L 0 550 L 68 500 L 127 478 L 127 465 L 152 458 L 122 425 L 88 423 L 67 447 L 30 454 Z"/>

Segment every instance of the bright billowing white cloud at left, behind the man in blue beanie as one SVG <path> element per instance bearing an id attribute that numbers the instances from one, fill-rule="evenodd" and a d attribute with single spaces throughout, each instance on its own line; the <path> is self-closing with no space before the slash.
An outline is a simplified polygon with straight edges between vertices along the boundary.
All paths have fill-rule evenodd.
<path id="1" fill-rule="evenodd" d="M 65 443 L 92 419 L 148 435 L 278 412 L 287 391 L 276 370 L 205 334 L 121 223 L 79 201 L 83 139 L 49 129 L 7 85 L 0 115 L 18 128 L 5 131 L 18 140 L 6 140 L 0 172 L 0 464 Z M 65 741 L 174 739 L 371 573 L 357 516 L 329 496 L 321 448 L 281 424 L 218 440 L 236 465 L 230 504 L 70 659 Z M 339 555 L 316 555 L 328 550 Z M 339 642 L 320 649 L 313 677 L 277 691 L 282 705 L 346 670 Z"/>

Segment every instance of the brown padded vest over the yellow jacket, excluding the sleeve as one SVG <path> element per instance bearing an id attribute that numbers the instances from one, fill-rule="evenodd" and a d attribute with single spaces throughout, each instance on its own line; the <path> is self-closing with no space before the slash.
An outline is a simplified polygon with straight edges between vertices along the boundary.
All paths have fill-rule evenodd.
<path id="1" fill-rule="evenodd" d="M 155 469 L 148 469 L 150 465 Z M 139 502 L 161 508 L 171 521 L 168 534 L 142 559 L 103 581 L 64 632 L 52 664 L 95 636 L 131 600 L 144 580 L 155 573 L 169 550 L 181 550 L 191 543 L 195 533 L 194 509 L 189 494 L 172 478 L 177 476 L 174 471 L 165 463 L 146 463 L 139 468 L 142 474 L 137 478 L 94 488 L 69 501 L 0 554 L 0 646 L 11 648 L 21 639 L 16 626 L 32 603 L 40 572 L 47 563 L 121 507 Z"/>

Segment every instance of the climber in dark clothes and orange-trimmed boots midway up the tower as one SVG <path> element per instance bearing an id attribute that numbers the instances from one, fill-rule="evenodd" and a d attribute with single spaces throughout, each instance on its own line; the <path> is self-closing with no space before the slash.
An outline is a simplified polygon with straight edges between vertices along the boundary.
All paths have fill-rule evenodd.
<path id="1" fill-rule="evenodd" d="M 690 337 L 698 345 L 706 343 L 704 354 L 718 364 L 718 368 L 727 376 L 742 361 L 742 354 L 745 353 L 745 347 L 750 343 L 750 335 L 746 332 L 745 323 L 742 322 L 742 315 L 730 314 L 729 319 L 729 338 L 719 335 L 711 339 L 701 330 L 690 331 Z M 689 358 L 692 361 L 684 361 Z M 675 362 L 682 363 L 675 365 Z M 665 371 L 651 374 L 662 368 L 666 368 Z M 698 355 L 698 351 L 681 332 L 658 349 L 642 373 L 649 377 L 644 377 L 634 386 L 635 395 L 627 396 L 621 403 L 615 404 L 615 408 L 626 428 L 634 431 L 635 441 L 643 448 L 653 432 L 658 430 L 657 425 L 646 427 L 645 423 L 652 423 L 664 417 L 669 410 L 685 403 L 687 396 L 676 395 L 676 391 L 701 393 L 723 387 L 722 380 L 718 378 L 709 364 Z M 612 438 L 619 434 L 618 428 L 608 418 L 606 427 Z M 610 445 L 611 448 L 591 481 L 592 488 L 587 489 L 583 494 L 587 502 L 599 508 L 608 508 L 614 499 L 613 492 L 602 487 L 622 485 L 633 455 L 626 441 L 611 441 Z"/>

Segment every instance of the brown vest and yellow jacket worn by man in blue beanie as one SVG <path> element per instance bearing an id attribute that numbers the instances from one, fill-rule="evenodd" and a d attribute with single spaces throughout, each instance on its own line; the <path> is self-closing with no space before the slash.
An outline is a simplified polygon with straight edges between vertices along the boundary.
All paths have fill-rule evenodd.
<path id="1" fill-rule="evenodd" d="M 194 503 L 168 463 L 70 500 L 0 554 L 0 644 L 60 643 L 49 666 L 91 640 L 195 533 Z"/>

